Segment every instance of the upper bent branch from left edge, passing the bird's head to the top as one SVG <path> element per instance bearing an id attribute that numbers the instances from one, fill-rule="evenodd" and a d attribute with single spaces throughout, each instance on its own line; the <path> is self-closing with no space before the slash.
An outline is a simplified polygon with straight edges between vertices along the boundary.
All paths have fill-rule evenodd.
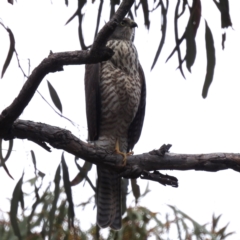
<path id="1" fill-rule="evenodd" d="M 11 125 L 31 101 L 39 84 L 48 73 L 63 71 L 64 65 L 98 63 L 111 58 L 114 53 L 110 48 L 106 48 L 105 45 L 109 36 L 115 30 L 117 23 L 124 18 L 133 2 L 134 0 L 124 0 L 122 2 L 113 18 L 97 35 L 90 51 L 50 53 L 50 55 L 33 70 L 12 104 L 1 113 L 0 131 L 6 133 L 10 131 Z"/>

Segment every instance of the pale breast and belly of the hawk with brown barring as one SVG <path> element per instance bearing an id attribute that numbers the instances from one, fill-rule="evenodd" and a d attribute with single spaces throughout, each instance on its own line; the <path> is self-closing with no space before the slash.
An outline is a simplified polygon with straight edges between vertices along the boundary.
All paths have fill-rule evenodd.
<path id="1" fill-rule="evenodd" d="M 126 151 L 128 128 L 138 110 L 141 82 L 138 54 L 130 41 L 110 40 L 113 57 L 101 63 L 101 120 L 97 145 L 114 149 L 119 139 L 120 150 Z"/>

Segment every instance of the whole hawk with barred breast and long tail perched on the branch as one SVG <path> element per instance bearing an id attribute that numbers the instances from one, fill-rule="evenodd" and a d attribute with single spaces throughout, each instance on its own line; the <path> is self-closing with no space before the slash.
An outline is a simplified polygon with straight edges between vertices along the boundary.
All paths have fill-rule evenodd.
<path id="1" fill-rule="evenodd" d="M 133 44 L 137 24 L 124 18 L 108 39 L 114 51 L 108 61 L 85 69 L 86 114 L 89 141 L 107 152 L 127 153 L 137 143 L 143 126 L 146 85 Z M 121 178 L 97 167 L 97 223 L 101 228 L 121 228 Z"/>

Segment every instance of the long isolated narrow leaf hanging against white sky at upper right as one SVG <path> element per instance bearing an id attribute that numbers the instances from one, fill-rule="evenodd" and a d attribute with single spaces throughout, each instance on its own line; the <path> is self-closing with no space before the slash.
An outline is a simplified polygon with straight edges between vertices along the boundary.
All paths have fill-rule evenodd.
<path id="1" fill-rule="evenodd" d="M 208 94 L 209 87 L 213 80 L 214 68 L 215 68 L 215 48 L 213 36 L 210 28 L 208 27 L 207 21 L 205 21 L 206 32 L 205 32 L 205 41 L 206 41 L 206 52 L 207 52 L 207 72 L 202 90 L 202 97 L 206 98 Z"/>

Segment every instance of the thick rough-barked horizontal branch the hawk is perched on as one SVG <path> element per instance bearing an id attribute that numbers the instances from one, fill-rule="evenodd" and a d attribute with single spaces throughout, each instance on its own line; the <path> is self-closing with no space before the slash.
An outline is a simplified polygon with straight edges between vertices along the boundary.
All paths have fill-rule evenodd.
<path id="1" fill-rule="evenodd" d="M 161 151 L 154 150 L 149 153 L 129 156 L 126 167 L 123 167 L 120 155 L 95 148 L 75 137 L 70 131 L 31 121 L 17 120 L 13 124 L 11 135 L 5 136 L 5 138 L 29 139 L 30 141 L 48 143 L 54 148 L 62 149 L 91 163 L 104 164 L 105 167 L 118 172 L 129 172 L 129 176 L 131 172 L 137 172 L 139 176 L 144 171 L 152 170 L 202 170 L 215 172 L 233 169 L 240 172 L 240 154 L 236 153 L 165 153 L 163 155 Z M 126 175 L 123 174 L 123 176 Z"/>

